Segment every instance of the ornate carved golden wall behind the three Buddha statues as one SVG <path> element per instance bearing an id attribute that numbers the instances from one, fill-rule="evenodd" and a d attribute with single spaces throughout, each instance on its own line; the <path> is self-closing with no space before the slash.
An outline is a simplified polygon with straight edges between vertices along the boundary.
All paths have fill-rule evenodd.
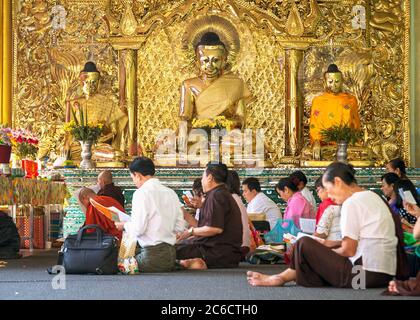
<path id="1" fill-rule="evenodd" d="M 286 113 L 289 104 L 297 103 L 286 94 L 293 50 L 303 51 L 297 64 L 303 143 L 311 100 L 323 90 L 322 72 L 336 62 L 346 89 L 359 100 L 366 144 L 381 158 L 400 154 L 409 160 L 408 0 L 133 0 L 137 25 L 131 34 L 123 31 L 123 18 L 130 14 L 126 3 L 130 1 L 14 1 L 14 124 L 37 131 L 44 138 L 44 153 L 60 147 L 65 100 L 80 93 L 77 75 L 89 57 L 104 76 L 101 92 L 126 107 L 119 94 L 123 52 L 116 50 L 124 43 L 137 56 L 137 138 L 151 152 L 159 129 L 175 129 L 179 86 L 195 74 L 182 47 L 184 32 L 195 19 L 217 15 L 239 34 L 234 70 L 257 98 L 247 125 L 267 128 L 275 165 L 284 162 Z M 64 29 L 52 28 L 56 4 L 67 11 Z M 366 8 L 364 30 L 352 27 L 356 4 Z"/>

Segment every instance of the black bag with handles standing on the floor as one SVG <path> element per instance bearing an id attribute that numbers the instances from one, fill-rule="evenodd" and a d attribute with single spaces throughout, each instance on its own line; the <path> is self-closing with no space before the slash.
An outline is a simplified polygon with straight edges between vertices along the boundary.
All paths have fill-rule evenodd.
<path id="1" fill-rule="evenodd" d="M 86 233 L 95 229 L 95 233 Z M 62 249 L 66 274 L 116 274 L 118 241 L 98 225 L 87 225 L 77 235 L 69 235 Z"/>

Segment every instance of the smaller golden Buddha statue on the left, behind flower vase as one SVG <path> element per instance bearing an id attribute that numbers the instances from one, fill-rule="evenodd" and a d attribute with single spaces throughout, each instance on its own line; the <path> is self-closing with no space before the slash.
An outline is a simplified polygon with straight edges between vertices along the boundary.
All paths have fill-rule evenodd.
<path id="1" fill-rule="evenodd" d="M 66 121 L 73 120 L 71 108 L 82 108 L 87 112 L 89 122 L 101 123 L 102 134 L 93 147 L 92 159 L 97 163 L 112 162 L 120 166 L 118 162 L 125 155 L 128 116 L 117 103 L 98 92 L 100 73 L 93 62 L 85 64 L 79 78 L 83 83 L 83 96 L 67 101 Z M 80 144 L 72 137 L 67 137 L 66 148 L 71 160 L 80 160 Z"/>

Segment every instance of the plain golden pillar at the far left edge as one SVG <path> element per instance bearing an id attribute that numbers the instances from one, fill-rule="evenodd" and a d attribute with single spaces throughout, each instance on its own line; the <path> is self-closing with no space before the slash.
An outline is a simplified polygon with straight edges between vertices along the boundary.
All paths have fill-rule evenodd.
<path id="1" fill-rule="evenodd" d="M 0 0 L 0 123 L 12 125 L 12 1 Z"/>

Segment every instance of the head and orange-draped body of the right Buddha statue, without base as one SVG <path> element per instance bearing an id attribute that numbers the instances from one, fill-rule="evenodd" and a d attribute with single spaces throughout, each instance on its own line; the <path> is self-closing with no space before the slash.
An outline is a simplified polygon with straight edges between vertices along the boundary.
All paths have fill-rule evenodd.
<path id="1" fill-rule="evenodd" d="M 324 73 L 326 92 L 312 101 L 309 137 L 311 144 L 322 144 L 321 130 L 335 125 L 360 129 L 357 99 L 343 92 L 343 75 L 335 64 Z"/>

